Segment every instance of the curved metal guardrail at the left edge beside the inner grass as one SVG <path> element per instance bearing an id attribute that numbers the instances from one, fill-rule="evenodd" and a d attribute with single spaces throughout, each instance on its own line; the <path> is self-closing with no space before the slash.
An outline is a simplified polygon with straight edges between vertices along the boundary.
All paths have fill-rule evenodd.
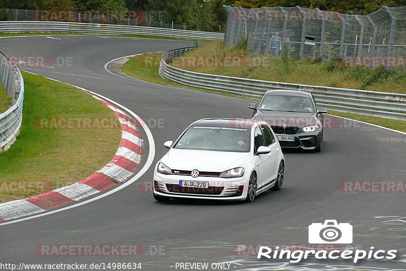
<path id="1" fill-rule="evenodd" d="M 14 143 L 20 131 L 24 100 L 24 80 L 18 68 L 1 51 L 0 58 L 0 81 L 6 89 L 6 94 L 12 97 L 13 100 L 13 105 L 6 112 L 0 114 L 0 152 L 2 152 Z"/>

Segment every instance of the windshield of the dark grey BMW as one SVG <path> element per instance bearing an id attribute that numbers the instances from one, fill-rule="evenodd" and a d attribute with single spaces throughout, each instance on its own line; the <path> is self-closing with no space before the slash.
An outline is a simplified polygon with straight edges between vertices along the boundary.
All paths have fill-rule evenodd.
<path id="1" fill-rule="evenodd" d="M 307 97 L 290 95 L 267 95 L 259 106 L 260 110 L 313 113 L 313 101 Z"/>

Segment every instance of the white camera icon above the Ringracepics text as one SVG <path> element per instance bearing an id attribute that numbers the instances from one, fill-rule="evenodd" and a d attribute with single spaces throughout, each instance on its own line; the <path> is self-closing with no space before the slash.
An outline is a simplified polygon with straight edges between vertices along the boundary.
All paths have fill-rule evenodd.
<path id="1" fill-rule="evenodd" d="M 337 224 L 336 220 L 312 223 L 309 226 L 310 244 L 351 244 L 352 226 L 350 223 Z"/>

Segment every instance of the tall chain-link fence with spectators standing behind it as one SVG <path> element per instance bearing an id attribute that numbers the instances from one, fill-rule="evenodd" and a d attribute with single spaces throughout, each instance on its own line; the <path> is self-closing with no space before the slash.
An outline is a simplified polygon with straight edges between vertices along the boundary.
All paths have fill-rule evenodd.
<path id="1" fill-rule="evenodd" d="M 362 66 L 406 67 L 406 7 L 382 7 L 363 16 L 299 6 L 224 8 L 224 42 L 229 47 L 247 38 L 248 49 L 258 54 L 328 60 L 345 56 L 346 62 Z"/>

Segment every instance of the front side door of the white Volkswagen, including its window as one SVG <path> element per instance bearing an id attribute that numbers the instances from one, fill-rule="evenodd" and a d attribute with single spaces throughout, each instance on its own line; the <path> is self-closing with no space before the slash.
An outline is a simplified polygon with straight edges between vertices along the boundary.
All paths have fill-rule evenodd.
<path id="1" fill-rule="evenodd" d="M 254 130 L 254 155 L 260 146 L 266 146 L 265 137 L 260 126 Z M 257 171 L 257 189 L 262 188 L 268 183 L 270 169 L 269 154 L 259 154 L 254 156 L 254 165 Z"/>

